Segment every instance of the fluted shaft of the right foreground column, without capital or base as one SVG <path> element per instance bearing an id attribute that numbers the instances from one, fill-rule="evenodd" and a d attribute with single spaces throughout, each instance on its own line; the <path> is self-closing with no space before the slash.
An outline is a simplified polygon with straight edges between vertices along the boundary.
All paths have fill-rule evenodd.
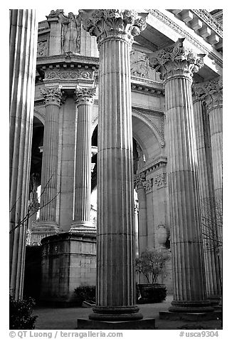
<path id="1" fill-rule="evenodd" d="M 165 85 L 169 142 L 169 199 L 172 224 L 174 301 L 206 300 L 200 232 L 191 82 Z"/>

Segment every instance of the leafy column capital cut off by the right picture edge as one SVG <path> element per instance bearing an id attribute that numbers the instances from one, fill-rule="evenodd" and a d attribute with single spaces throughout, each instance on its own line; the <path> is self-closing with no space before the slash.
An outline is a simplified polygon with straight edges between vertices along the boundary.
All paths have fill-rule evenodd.
<path id="1" fill-rule="evenodd" d="M 204 83 L 194 83 L 193 95 L 196 100 L 204 101 L 208 110 L 222 105 L 223 78 L 220 76 Z"/>

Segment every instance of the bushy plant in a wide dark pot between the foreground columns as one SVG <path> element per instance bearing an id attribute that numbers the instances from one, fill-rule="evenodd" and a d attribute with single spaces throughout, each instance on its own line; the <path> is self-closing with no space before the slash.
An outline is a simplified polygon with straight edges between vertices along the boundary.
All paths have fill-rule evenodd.
<path id="1" fill-rule="evenodd" d="M 167 296 L 166 287 L 157 283 L 157 278 L 167 275 L 166 262 L 169 253 L 162 249 L 146 249 L 136 259 L 136 271 L 142 273 L 147 283 L 138 284 L 138 303 L 160 303 Z"/>

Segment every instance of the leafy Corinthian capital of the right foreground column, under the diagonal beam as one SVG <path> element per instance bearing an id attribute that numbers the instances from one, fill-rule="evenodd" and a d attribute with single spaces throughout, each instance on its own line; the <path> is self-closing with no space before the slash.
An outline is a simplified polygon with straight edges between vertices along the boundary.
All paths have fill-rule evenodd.
<path id="1" fill-rule="evenodd" d="M 159 71 L 164 80 L 184 76 L 191 79 L 193 73 L 204 66 L 204 54 L 195 54 L 184 46 L 179 38 L 173 46 L 149 54 L 150 66 Z"/>

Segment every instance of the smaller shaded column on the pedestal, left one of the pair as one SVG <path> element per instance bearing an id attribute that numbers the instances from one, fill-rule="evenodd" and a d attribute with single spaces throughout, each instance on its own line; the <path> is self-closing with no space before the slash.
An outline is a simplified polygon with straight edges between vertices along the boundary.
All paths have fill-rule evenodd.
<path id="1" fill-rule="evenodd" d="M 46 100 L 46 116 L 43 134 L 43 162 L 41 172 L 41 211 L 39 225 L 43 233 L 58 231 L 56 223 L 58 131 L 59 110 L 63 93 L 58 87 L 44 88 L 41 95 Z"/>

